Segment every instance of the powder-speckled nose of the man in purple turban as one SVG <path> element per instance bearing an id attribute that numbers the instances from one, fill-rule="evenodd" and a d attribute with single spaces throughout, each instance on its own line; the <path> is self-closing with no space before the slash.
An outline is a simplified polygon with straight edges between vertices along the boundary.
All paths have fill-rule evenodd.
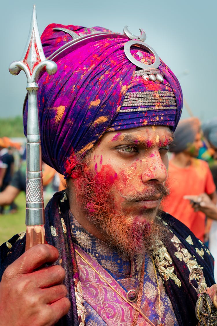
<path id="1" fill-rule="evenodd" d="M 167 179 L 167 167 L 165 166 L 160 153 L 158 151 L 152 152 L 147 160 L 146 164 L 142 165 L 142 182 L 150 183 L 157 182 L 163 183 Z"/>

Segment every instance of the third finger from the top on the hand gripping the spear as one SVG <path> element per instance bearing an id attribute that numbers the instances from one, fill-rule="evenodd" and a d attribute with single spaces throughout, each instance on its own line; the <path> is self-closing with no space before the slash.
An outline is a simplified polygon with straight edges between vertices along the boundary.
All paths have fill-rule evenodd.
<path id="1" fill-rule="evenodd" d="M 63 284 L 56 285 L 48 289 L 40 290 L 41 299 L 45 304 L 52 304 L 66 297 L 66 295 L 67 295 L 67 289 Z"/>

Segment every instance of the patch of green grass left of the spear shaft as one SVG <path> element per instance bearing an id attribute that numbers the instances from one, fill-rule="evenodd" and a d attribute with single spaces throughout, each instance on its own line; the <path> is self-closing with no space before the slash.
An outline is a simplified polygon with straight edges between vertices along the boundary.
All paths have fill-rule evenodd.
<path id="1" fill-rule="evenodd" d="M 0 245 L 9 240 L 14 234 L 26 230 L 26 195 L 23 191 L 20 192 L 15 203 L 18 205 L 17 213 L 0 215 Z"/>

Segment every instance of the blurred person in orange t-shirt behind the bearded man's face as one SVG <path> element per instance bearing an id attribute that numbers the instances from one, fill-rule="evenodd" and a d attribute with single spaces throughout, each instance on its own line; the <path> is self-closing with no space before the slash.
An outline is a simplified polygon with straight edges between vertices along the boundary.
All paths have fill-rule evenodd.
<path id="1" fill-rule="evenodd" d="M 216 187 L 208 163 L 197 159 L 201 141 L 201 125 L 197 118 L 182 120 L 174 132 L 170 146 L 173 156 L 169 162 L 168 186 L 170 195 L 165 199 L 163 209 L 183 222 L 201 241 L 206 241 L 206 216 L 195 212 L 185 195 L 206 193 L 216 203 Z"/>

